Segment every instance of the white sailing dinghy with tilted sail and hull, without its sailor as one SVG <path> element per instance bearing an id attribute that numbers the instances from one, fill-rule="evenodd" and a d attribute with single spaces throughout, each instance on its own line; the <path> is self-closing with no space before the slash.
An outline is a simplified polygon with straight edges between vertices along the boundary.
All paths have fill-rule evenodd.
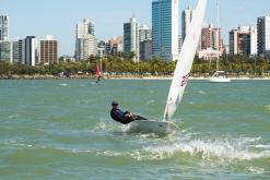
<path id="1" fill-rule="evenodd" d="M 177 129 L 177 125 L 173 123 L 171 119 L 175 113 L 177 106 L 181 100 L 184 91 L 187 86 L 188 77 L 196 55 L 196 49 L 198 47 L 201 35 L 206 5 L 207 0 L 198 1 L 195 15 L 188 27 L 188 33 L 176 64 L 163 120 L 132 121 L 128 125 L 128 132 L 154 133 L 159 135 L 165 135 Z"/>

